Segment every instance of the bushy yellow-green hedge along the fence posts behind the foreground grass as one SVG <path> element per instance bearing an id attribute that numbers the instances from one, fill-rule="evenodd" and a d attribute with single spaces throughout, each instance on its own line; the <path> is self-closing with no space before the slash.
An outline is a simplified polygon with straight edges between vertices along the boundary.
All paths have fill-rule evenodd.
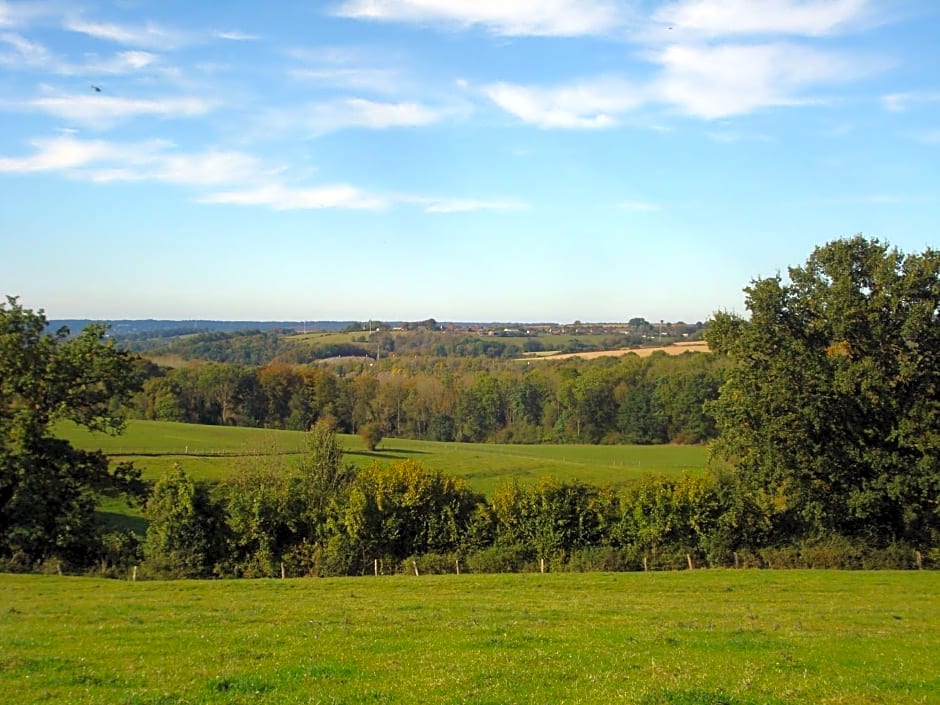
<path id="1" fill-rule="evenodd" d="M 890 532 L 867 542 L 775 535 L 772 517 L 726 470 L 648 477 L 621 491 L 507 482 L 490 497 L 411 460 L 356 471 L 325 421 L 299 467 L 259 456 L 218 483 L 176 467 L 155 484 L 146 514 L 145 539 L 112 572 L 127 575 L 129 561 L 141 577 L 161 578 L 910 568 L 919 545 Z"/>

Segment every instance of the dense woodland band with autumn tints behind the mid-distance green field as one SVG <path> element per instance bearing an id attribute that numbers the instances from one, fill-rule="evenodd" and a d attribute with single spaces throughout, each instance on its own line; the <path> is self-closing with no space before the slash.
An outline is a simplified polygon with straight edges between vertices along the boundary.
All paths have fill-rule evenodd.
<path id="1" fill-rule="evenodd" d="M 343 433 L 505 443 L 702 443 L 715 435 L 705 402 L 723 358 L 511 364 L 470 358 L 388 360 L 353 368 L 206 363 L 149 366 L 131 402 L 140 418 L 307 430 L 322 418 Z"/>

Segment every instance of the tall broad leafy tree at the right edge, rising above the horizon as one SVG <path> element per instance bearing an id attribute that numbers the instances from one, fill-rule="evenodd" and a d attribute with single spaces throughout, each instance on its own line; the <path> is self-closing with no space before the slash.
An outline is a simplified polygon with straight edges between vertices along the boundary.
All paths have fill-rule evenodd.
<path id="1" fill-rule="evenodd" d="M 714 451 L 781 539 L 940 544 L 940 251 L 858 235 L 788 273 L 708 327 L 732 363 Z"/>

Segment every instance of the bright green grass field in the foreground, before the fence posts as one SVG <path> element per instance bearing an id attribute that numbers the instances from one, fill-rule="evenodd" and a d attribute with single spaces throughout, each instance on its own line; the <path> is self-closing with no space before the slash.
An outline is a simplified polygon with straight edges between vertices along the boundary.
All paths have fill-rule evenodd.
<path id="1" fill-rule="evenodd" d="M 0 576 L 0 701 L 936 703 L 940 574 Z"/>

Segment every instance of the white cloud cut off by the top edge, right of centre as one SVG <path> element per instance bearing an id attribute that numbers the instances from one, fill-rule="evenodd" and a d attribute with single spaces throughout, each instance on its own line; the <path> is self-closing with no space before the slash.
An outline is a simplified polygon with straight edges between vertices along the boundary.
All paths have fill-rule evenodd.
<path id="1" fill-rule="evenodd" d="M 869 0 L 681 0 L 653 14 L 676 35 L 744 34 L 821 36 L 870 16 Z"/>

